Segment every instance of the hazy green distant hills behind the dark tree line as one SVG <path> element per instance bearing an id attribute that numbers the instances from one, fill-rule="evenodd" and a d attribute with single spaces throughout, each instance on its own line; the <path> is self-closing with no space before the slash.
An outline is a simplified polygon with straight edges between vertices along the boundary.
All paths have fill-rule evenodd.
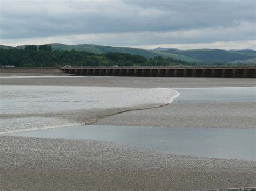
<path id="1" fill-rule="evenodd" d="M 21 46 L 5 46 L 0 45 L 2 49 L 17 48 L 24 49 L 26 45 Z M 39 45 L 37 45 L 39 46 Z M 87 51 L 92 53 L 106 53 L 106 52 L 120 52 L 129 53 L 132 55 L 141 55 L 145 58 L 153 58 L 155 56 L 163 56 L 164 58 L 172 57 L 174 59 L 180 59 L 188 62 L 196 62 L 198 64 L 204 63 L 235 63 L 235 64 L 250 64 L 256 63 L 256 51 L 252 49 L 231 50 L 226 51 L 223 49 L 191 49 L 180 50 L 177 48 L 155 48 L 153 50 L 129 48 L 129 47 L 112 47 L 101 46 L 93 44 L 78 44 L 78 45 L 65 45 L 59 43 L 51 44 L 53 50 L 59 51 Z"/>

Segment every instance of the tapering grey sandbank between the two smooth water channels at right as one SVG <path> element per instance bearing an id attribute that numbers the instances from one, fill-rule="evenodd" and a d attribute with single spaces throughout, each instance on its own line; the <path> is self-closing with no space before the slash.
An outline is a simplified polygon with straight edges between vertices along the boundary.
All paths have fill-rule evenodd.
<path id="1" fill-rule="evenodd" d="M 255 102 L 172 103 L 100 119 L 97 125 L 173 126 L 178 128 L 254 129 Z"/>

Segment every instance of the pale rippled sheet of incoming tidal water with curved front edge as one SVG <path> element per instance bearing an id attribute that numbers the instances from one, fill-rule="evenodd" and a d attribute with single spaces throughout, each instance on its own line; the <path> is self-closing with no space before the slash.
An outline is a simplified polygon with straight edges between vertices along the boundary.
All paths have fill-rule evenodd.
<path id="1" fill-rule="evenodd" d="M 78 110 L 150 108 L 179 96 L 169 88 L 115 88 L 89 86 L 0 86 L 0 134 L 75 125 L 62 112 Z M 51 114 L 51 115 L 49 115 Z M 51 116 L 51 117 L 49 117 Z M 58 116 L 58 117 L 56 117 Z"/>

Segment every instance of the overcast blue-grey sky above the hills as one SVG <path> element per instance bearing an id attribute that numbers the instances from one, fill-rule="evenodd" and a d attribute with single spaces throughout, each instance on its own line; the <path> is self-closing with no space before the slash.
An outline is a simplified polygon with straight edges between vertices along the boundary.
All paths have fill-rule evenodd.
<path id="1" fill-rule="evenodd" d="M 256 49 L 256 0 L 0 0 L 0 44 Z"/>

